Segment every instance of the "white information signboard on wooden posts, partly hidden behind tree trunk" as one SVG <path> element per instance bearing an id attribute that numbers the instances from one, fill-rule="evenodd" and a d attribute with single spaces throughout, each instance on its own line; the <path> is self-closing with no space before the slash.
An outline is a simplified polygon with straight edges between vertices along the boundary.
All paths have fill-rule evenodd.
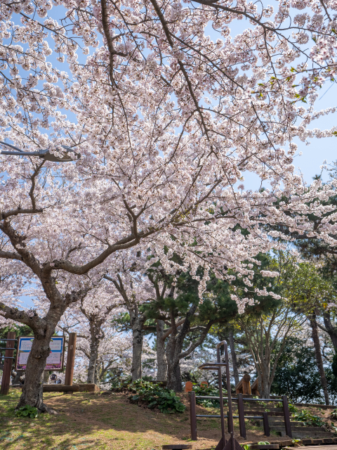
<path id="1" fill-rule="evenodd" d="M 27 359 L 29 352 L 32 349 L 34 338 L 19 336 L 18 337 L 18 352 L 15 361 L 15 370 L 25 371 L 27 366 Z M 51 338 L 51 353 L 46 361 L 45 371 L 62 371 L 63 359 L 65 354 L 65 337 L 53 336 Z"/>

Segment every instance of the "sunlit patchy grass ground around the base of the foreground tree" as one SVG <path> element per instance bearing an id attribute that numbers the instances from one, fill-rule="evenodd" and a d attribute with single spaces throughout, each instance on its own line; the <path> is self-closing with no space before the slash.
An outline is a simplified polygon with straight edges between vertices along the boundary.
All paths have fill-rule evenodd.
<path id="1" fill-rule="evenodd" d="M 36 419 L 13 415 L 20 392 L 0 396 L 0 450 L 159 450 L 164 444 L 190 441 L 190 411 L 163 414 L 130 404 L 123 394 L 72 395 L 45 393 L 44 401 L 57 416 L 41 414 Z M 187 398 L 180 394 L 187 405 Z M 212 409 L 197 406 L 198 413 Z M 237 421 L 236 421 L 237 422 Z M 235 423 L 239 437 L 238 424 Z M 194 449 L 210 449 L 220 439 L 218 419 L 197 420 L 198 440 Z M 247 430 L 246 441 L 265 439 L 260 430 Z"/>

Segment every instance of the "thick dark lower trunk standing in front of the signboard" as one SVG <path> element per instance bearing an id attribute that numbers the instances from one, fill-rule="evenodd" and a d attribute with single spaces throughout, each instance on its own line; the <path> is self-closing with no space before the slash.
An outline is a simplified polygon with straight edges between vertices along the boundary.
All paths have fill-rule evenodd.
<path id="1" fill-rule="evenodd" d="M 43 337 L 34 333 L 32 350 L 29 352 L 25 371 L 25 384 L 16 409 L 29 405 L 36 407 L 40 412 L 54 412 L 43 402 L 44 368 L 46 367 L 46 359 L 51 353 L 49 344 L 54 330 L 55 326 L 49 326 Z"/>

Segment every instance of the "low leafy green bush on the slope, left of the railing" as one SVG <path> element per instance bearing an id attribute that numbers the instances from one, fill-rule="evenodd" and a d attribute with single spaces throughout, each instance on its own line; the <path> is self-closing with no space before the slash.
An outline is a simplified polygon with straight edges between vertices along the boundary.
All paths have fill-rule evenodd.
<path id="1" fill-rule="evenodd" d="M 118 386 L 112 387 L 112 390 L 132 392 L 128 397 L 130 401 L 145 404 L 150 409 L 158 408 L 161 413 L 182 413 L 186 409 L 176 392 L 143 379 L 124 380 Z"/>

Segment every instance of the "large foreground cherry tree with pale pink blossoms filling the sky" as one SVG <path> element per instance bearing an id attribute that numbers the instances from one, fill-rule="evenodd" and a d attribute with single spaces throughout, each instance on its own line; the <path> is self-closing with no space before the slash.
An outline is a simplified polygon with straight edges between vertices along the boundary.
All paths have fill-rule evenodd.
<path id="1" fill-rule="evenodd" d="M 305 219 L 312 208 L 333 210 L 319 203 L 331 186 L 306 189 L 292 165 L 293 139 L 335 133 L 308 128 L 334 111 L 313 110 L 318 87 L 335 75 L 334 8 L 323 0 L 280 1 L 275 13 L 263 2 L 208 0 L 0 3 L 0 139 L 24 150 L 0 160 L 1 271 L 40 285 L 49 304 L 39 316 L 0 303 L 6 319 L 34 331 L 19 406 L 46 411 L 40 380 L 55 326 L 118 252 L 162 249 L 168 272 L 174 252 L 192 276 L 203 266 L 201 295 L 211 267 L 250 283 L 249 262 L 277 245 L 260 224 L 335 243 L 333 215 L 315 229 Z M 237 18 L 248 28 L 232 36 Z M 46 148 L 62 155 L 62 145 L 81 159 L 44 158 Z M 270 188 L 237 186 L 244 171 Z M 277 203 L 283 194 L 289 201 Z"/>

